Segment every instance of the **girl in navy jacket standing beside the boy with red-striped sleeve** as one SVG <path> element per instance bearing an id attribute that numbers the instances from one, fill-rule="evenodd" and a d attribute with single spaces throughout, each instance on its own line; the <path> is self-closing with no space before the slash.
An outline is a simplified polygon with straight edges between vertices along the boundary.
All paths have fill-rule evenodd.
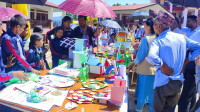
<path id="1" fill-rule="evenodd" d="M 43 38 L 40 33 L 33 33 L 30 37 L 29 50 L 26 53 L 27 62 L 36 70 L 46 69 L 42 52 Z"/>

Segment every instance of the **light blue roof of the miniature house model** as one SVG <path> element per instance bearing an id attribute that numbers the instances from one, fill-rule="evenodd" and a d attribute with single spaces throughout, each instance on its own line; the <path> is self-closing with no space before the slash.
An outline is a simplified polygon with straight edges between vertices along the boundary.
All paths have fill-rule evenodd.
<path id="1" fill-rule="evenodd" d="M 98 66 L 105 66 L 105 62 L 106 58 L 103 58 L 102 63 Z M 97 66 L 97 64 L 99 63 L 100 63 L 100 57 L 92 57 L 92 56 L 89 57 L 87 62 L 88 65 L 93 65 L 93 66 Z"/>

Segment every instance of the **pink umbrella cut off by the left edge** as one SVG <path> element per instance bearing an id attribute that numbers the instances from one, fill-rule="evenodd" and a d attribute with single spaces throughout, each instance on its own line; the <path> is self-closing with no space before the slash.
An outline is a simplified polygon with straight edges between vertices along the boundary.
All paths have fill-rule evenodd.
<path id="1" fill-rule="evenodd" d="M 0 8 L 0 12 L 1 12 L 1 15 L 0 15 L 1 21 L 10 21 L 10 19 L 16 14 L 22 15 L 26 19 L 29 19 L 22 12 L 15 10 L 13 8 Z"/>

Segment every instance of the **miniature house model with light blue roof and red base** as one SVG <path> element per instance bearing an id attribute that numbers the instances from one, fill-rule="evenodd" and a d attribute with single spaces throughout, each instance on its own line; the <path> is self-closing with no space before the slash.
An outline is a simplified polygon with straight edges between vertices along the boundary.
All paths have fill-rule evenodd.
<path id="1" fill-rule="evenodd" d="M 105 62 L 106 58 L 102 58 L 102 62 L 100 63 L 100 57 L 89 57 L 88 66 L 89 66 L 89 74 L 102 76 L 105 74 Z"/>

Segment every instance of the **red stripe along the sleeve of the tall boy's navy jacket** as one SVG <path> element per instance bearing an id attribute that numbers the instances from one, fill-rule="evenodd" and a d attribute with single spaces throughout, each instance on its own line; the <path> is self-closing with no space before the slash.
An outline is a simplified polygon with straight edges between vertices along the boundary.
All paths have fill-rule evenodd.
<path id="1" fill-rule="evenodd" d="M 29 68 L 30 65 L 28 63 L 26 63 L 14 50 L 14 48 L 12 47 L 12 45 L 10 44 L 9 40 L 6 40 L 6 44 L 8 46 L 8 48 L 10 49 L 10 51 L 13 53 L 13 55 L 26 67 Z"/>

